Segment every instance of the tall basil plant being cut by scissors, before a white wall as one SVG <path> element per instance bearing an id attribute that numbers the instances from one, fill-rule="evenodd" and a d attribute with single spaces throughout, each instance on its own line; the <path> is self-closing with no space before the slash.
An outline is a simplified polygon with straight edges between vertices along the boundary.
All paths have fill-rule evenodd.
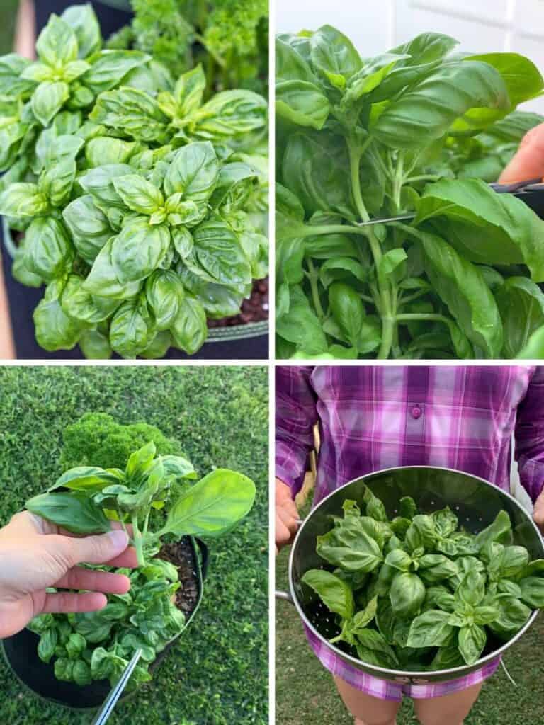
<path id="1" fill-rule="evenodd" d="M 516 110 L 544 80 L 456 45 L 277 38 L 278 357 L 544 356 L 544 221 L 486 183 L 544 120 Z"/>

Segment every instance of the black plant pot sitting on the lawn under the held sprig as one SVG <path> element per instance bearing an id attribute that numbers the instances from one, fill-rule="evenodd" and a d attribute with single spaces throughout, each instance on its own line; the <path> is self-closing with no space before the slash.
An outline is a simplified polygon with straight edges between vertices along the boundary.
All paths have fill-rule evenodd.
<path id="1" fill-rule="evenodd" d="M 179 637 L 181 637 L 189 623 L 192 621 L 204 591 L 204 580 L 207 574 L 207 547 L 199 539 L 187 537 L 191 542 L 194 556 L 194 573 L 197 578 L 198 595 L 197 603 L 192 610 L 190 616 L 187 617 L 186 627 L 181 634 L 166 645 L 165 649 L 157 655 L 157 658 L 151 664 L 151 670 L 154 671 L 164 660 L 170 649 L 176 645 Z M 57 705 L 65 705 L 69 708 L 86 709 L 99 708 L 110 693 L 111 685 L 108 680 L 95 680 L 91 684 L 81 686 L 75 682 L 61 682 L 54 676 L 53 662 L 45 663 L 38 658 L 38 642 L 39 637 L 30 629 L 22 629 L 13 637 L 6 637 L 1 644 L 4 650 L 4 657 L 17 679 L 22 682 L 34 695 L 43 697 L 51 703 Z M 153 681 L 150 683 L 153 684 Z M 136 690 L 124 692 L 121 700 L 125 700 L 134 694 Z"/>

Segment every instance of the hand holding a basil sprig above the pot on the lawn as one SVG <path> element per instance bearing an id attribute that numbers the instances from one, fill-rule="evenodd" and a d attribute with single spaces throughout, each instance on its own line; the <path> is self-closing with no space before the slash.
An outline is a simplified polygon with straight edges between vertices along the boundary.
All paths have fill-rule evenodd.
<path id="1" fill-rule="evenodd" d="M 28 511 L 17 513 L 0 529 L 0 638 L 20 631 L 38 614 L 102 609 L 106 593 L 131 588 L 128 576 L 76 566 L 83 562 L 137 566 L 124 531 L 75 537 Z M 49 594 L 48 587 L 88 592 Z"/>

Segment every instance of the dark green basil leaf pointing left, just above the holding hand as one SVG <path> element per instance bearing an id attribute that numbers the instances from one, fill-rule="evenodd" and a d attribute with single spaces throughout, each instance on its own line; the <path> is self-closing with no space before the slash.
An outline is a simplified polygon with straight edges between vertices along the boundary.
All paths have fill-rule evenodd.
<path id="1" fill-rule="evenodd" d="M 112 528 L 102 509 L 79 492 L 40 494 L 25 507 L 73 534 L 102 534 Z"/>

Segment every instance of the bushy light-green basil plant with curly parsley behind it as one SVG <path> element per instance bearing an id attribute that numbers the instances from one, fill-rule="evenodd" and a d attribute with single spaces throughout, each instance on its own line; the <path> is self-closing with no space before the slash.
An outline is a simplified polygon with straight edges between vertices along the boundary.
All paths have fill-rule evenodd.
<path id="1" fill-rule="evenodd" d="M 38 343 L 197 352 L 268 271 L 265 99 L 205 101 L 200 65 L 172 78 L 102 49 L 88 5 L 51 15 L 36 51 L 0 58 L 0 213 L 21 233 L 15 278 L 46 285 Z"/>

